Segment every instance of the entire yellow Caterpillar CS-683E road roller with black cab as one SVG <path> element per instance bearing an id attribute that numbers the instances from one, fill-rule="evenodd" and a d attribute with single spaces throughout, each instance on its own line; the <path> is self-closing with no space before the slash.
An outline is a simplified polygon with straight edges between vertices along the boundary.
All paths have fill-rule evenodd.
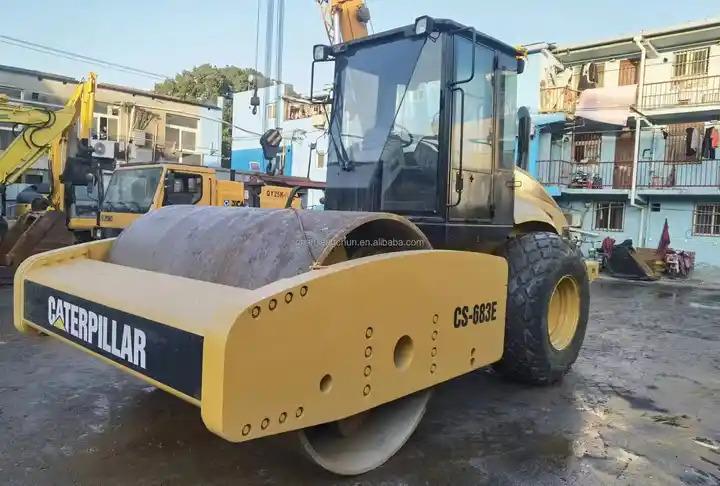
<path id="1" fill-rule="evenodd" d="M 324 211 L 152 211 L 28 259 L 15 325 L 198 406 L 229 441 L 299 431 L 353 475 L 408 440 L 439 383 L 488 366 L 559 380 L 589 283 L 561 211 L 515 168 L 520 52 L 421 17 L 317 46 L 325 61 Z"/>

